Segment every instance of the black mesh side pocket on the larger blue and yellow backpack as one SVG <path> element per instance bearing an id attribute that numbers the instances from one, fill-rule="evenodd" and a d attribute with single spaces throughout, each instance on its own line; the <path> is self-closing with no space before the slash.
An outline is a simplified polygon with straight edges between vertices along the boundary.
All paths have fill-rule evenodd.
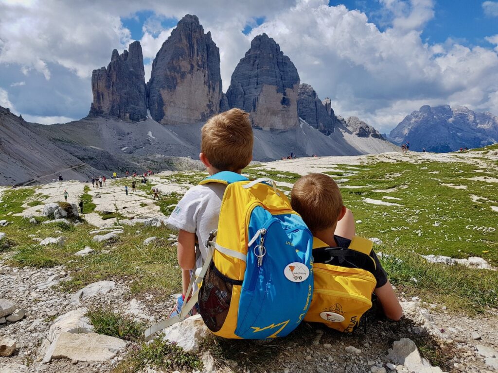
<path id="1" fill-rule="evenodd" d="M 213 332 L 219 331 L 225 323 L 233 285 L 242 285 L 242 281 L 227 278 L 211 262 L 199 289 L 198 302 L 202 319 Z"/>

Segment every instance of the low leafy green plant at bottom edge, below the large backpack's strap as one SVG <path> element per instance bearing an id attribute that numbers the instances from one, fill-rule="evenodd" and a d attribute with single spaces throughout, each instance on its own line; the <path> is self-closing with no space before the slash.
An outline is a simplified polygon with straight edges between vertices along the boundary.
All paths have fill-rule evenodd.
<path id="1" fill-rule="evenodd" d="M 134 373 L 146 367 L 166 372 L 192 371 L 202 369 L 202 362 L 195 354 L 185 352 L 181 347 L 158 337 L 132 350 L 127 359 L 113 370 L 113 373 Z"/>

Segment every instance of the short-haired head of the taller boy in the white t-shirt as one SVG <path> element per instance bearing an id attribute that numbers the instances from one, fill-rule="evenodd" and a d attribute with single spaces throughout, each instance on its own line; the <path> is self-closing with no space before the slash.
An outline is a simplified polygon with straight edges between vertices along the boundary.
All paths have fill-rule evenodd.
<path id="1" fill-rule="evenodd" d="M 233 108 L 211 117 L 202 127 L 201 152 L 220 171 L 240 171 L 252 157 L 249 114 Z"/>

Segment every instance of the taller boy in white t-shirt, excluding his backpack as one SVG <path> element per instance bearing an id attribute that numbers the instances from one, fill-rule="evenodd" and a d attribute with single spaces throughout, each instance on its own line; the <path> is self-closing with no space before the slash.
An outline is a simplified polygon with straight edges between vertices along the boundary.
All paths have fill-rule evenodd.
<path id="1" fill-rule="evenodd" d="M 199 159 L 209 175 L 221 171 L 240 174 L 252 160 L 252 126 L 249 114 L 234 108 L 211 117 L 202 127 Z M 202 268 L 207 257 L 204 243 L 218 228 L 225 185 L 209 183 L 190 188 L 168 218 L 179 229 L 178 264 L 182 269 L 182 295 L 170 317 L 179 314 L 186 294 L 190 271 Z M 197 242 L 197 247 L 196 247 Z M 195 308 L 191 314 L 196 313 Z"/>

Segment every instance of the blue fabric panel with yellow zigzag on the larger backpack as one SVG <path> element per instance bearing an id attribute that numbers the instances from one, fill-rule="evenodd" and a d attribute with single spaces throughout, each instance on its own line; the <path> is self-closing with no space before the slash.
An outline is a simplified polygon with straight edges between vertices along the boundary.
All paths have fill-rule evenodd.
<path id="1" fill-rule="evenodd" d="M 271 215 L 263 207 L 253 209 L 249 221 L 249 240 L 260 228 L 267 230 L 263 246 L 266 254 L 257 266 L 254 248 L 248 250 L 246 273 L 239 302 L 235 334 L 245 339 L 284 337 L 304 318 L 313 291 L 311 232 L 297 214 Z M 310 275 L 293 282 L 284 275 L 294 262 L 307 266 Z"/>

